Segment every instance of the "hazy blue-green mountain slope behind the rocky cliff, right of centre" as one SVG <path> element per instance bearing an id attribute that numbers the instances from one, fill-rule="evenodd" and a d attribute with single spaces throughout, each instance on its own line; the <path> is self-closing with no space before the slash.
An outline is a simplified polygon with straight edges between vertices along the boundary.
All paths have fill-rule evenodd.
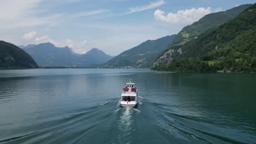
<path id="1" fill-rule="evenodd" d="M 130 50 L 120 53 L 110 59 L 104 67 L 107 68 L 150 68 L 153 65 L 154 59 L 158 57 L 168 44 L 175 38 L 174 35 L 168 35 L 156 40 L 147 40 L 144 43 L 133 47 Z"/>

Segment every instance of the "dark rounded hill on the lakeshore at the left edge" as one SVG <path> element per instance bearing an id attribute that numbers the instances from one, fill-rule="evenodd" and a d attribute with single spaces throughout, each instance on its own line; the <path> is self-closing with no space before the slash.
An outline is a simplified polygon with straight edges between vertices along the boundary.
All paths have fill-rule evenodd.
<path id="1" fill-rule="evenodd" d="M 37 68 L 37 63 L 18 46 L 0 40 L 0 69 Z"/>

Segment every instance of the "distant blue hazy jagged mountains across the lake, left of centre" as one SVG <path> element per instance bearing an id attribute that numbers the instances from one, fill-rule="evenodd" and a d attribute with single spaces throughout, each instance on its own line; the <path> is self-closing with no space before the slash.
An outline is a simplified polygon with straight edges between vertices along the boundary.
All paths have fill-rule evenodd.
<path id="1" fill-rule="evenodd" d="M 94 67 L 95 64 L 102 64 L 113 58 L 96 48 L 78 54 L 68 46 L 56 47 L 51 43 L 28 45 L 23 49 L 38 65 L 47 67 Z"/>

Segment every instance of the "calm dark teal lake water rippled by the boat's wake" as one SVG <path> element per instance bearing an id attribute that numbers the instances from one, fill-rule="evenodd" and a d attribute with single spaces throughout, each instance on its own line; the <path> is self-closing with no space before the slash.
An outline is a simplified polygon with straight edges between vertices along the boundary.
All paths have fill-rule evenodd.
<path id="1" fill-rule="evenodd" d="M 132 79 L 135 108 L 120 106 Z M 256 143 L 256 74 L 0 70 L 0 143 Z"/>

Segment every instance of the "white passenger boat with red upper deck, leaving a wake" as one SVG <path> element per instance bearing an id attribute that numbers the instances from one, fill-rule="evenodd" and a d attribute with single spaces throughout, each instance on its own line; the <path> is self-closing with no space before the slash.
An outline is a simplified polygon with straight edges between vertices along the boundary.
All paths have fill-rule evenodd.
<path id="1" fill-rule="evenodd" d="M 135 107 L 138 104 L 138 91 L 131 79 L 123 88 L 120 104 L 123 107 Z"/>

